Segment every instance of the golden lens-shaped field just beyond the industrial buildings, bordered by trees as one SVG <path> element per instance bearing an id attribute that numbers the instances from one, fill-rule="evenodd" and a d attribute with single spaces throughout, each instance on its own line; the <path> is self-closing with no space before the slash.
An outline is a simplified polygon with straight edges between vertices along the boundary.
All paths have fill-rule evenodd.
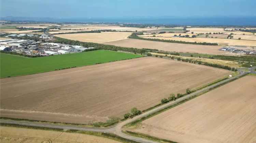
<path id="1" fill-rule="evenodd" d="M 131 32 L 75 33 L 55 36 L 81 42 L 105 43 L 127 39 L 129 35 L 131 35 Z"/>

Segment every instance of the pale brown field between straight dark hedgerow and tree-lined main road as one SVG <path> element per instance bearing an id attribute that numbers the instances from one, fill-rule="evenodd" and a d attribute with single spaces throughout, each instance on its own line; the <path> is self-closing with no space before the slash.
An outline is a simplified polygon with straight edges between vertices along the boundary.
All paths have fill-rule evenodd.
<path id="1" fill-rule="evenodd" d="M 180 44 L 180 43 L 168 43 L 157 42 L 140 39 L 126 39 L 115 42 L 103 43 L 105 45 L 115 45 L 121 47 L 133 47 L 133 48 L 150 48 L 163 51 L 176 51 L 176 52 L 190 52 L 190 53 L 206 53 L 216 55 L 238 55 L 236 53 L 219 51 L 221 46 L 208 46 L 208 45 L 193 45 L 193 44 Z"/>

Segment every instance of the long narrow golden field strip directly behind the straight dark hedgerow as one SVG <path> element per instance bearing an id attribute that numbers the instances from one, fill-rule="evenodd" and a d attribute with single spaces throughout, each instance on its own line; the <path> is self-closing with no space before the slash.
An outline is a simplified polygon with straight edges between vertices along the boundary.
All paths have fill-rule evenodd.
<path id="1" fill-rule="evenodd" d="M 180 37 L 146 37 L 153 39 L 176 40 L 184 42 L 207 42 L 218 43 L 219 45 L 238 45 L 238 46 L 256 46 L 256 41 L 238 40 L 238 39 L 221 39 L 221 38 L 180 38 Z"/>

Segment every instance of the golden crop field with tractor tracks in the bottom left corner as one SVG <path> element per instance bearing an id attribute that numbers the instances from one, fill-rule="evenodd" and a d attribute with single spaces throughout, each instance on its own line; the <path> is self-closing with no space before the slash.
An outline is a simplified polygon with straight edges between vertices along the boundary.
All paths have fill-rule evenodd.
<path id="1" fill-rule="evenodd" d="M 103 137 L 62 131 L 1 126 L 0 132 L 1 143 L 120 143 Z"/>

